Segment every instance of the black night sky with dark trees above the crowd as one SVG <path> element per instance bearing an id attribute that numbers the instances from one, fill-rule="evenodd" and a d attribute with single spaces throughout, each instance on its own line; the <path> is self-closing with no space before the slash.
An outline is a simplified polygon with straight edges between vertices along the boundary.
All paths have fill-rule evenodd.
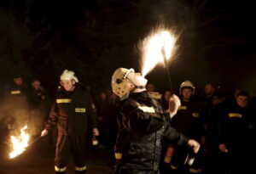
<path id="1" fill-rule="evenodd" d="M 1 87 L 17 73 L 55 89 L 64 69 L 80 81 L 110 88 L 118 67 L 140 70 L 137 43 L 159 25 L 178 34 L 169 62 L 175 90 L 184 80 L 201 89 L 256 89 L 255 10 L 251 3 L 181 0 L 2 0 Z M 161 76 L 161 78 L 160 78 Z M 148 81 L 168 87 L 160 65 Z"/>

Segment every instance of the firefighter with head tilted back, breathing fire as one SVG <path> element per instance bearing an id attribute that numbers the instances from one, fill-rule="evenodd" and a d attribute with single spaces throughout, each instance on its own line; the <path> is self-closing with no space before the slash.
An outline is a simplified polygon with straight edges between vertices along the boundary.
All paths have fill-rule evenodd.
<path id="1" fill-rule="evenodd" d="M 184 146 L 193 146 L 195 152 L 200 144 L 176 132 L 159 105 L 155 106 L 145 89 L 147 79 L 133 69 L 119 68 L 112 76 L 113 93 L 119 96 L 119 133 L 115 144 L 116 166 L 119 174 L 159 174 L 161 139 L 177 141 Z M 179 99 L 172 96 L 171 102 L 178 105 Z"/>

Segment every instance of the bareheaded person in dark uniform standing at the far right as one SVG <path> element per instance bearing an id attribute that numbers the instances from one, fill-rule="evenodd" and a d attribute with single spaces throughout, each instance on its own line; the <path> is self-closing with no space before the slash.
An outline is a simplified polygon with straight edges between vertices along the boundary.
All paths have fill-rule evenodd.
<path id="1" fill-rule="evenodd" d="M 228 154 L 228 173 L 251 173 L 248 169 L 248 149 L 254 138 L 250 132 L 249 95 L 241 91 L 236 103 L 225 106 L 219 124 L 219 150 Z M 254 147 L 255 148 L 255 147 Z M 253 156 L 254 157 L 254 156 Z"/>

